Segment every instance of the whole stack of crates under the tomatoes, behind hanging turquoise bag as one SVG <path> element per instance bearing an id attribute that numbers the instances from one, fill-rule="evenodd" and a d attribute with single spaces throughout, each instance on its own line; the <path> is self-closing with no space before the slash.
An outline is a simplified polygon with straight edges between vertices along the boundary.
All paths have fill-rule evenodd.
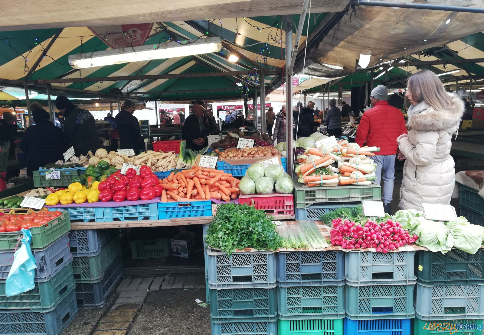
<path id="1" fill-rule="evenodd" d="M 0 244 L 0 334 L 58 335 L 77 314 L 73 258 L 69 250 L 68 213 L 47 225 L 31 228 L 35 258 L 35 287 L 7 297 L 6 278 L 14 261 L 16 243 Z M 0 233 L 2 242 L 22 234 Z"/>

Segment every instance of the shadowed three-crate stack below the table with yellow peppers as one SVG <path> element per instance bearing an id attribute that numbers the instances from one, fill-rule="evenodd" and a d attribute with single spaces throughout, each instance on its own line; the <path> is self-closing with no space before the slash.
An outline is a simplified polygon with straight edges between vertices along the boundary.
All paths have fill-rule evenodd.
<path id="1" fill-rule="evenodd" d="M 99 308 L 123 275 L 120 236 L 115 229 L 74 230 L 69 243 L 79 308 Z"/>

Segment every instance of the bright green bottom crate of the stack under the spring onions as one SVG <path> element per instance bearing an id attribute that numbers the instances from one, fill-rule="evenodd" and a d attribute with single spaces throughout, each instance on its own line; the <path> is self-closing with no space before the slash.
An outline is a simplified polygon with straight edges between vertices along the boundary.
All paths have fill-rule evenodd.
<path id="1" fill-rule="evenodd" d="M 343 319 L 278 320 L 279 335 L 343 335 Z"/>

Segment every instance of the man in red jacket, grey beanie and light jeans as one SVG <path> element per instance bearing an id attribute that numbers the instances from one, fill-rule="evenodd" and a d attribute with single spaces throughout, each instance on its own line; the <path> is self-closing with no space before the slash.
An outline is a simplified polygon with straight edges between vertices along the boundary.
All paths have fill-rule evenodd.
<path id="1" fill-rule="evenodd" d="M 396 138 L 407 133 L 405 119 L 400 110 L 388 104 L 388 89 L 378 85 L 371 91 L 373 108 L 364 112 L 360 120 L 355 142 L 363 146 L 378 146 L 380 151 L 373 159 L 377 164 L 375 182 L 383 180 L 382 200 L 385 213 L 392 214 L 390 203 L 393 199 L 393 179 L 395 179 L 395 155 L 398 151 Z"/>

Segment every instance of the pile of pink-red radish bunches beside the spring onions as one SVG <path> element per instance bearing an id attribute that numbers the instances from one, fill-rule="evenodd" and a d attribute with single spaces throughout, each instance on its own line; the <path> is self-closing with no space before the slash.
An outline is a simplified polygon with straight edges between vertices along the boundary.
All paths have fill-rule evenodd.
<path id="1" fill-rule="evenodd" d="M 368 220 L 364 225 L 350 220 L 336 218 L 333 220 L 331 243 L 343 249 L 375 248 L 378 252 L 387 253 L 406 244 L 415 243 L 418 236 L 410 235 L 400 223 L 388 219 L 378 224 Z"/>

